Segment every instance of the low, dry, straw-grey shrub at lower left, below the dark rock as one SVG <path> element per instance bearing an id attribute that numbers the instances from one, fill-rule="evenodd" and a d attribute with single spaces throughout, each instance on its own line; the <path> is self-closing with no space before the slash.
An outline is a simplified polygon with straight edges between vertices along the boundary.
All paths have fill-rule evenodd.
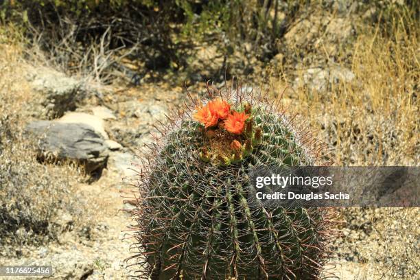
<path id="1" fill-rule="evenodd" d="M 14 124 L 1 116 L 0 246 L 54 240 L 78 226 L 84 209 L 75 192 L 77 170 L 38 163 L 33 140 Z"/>

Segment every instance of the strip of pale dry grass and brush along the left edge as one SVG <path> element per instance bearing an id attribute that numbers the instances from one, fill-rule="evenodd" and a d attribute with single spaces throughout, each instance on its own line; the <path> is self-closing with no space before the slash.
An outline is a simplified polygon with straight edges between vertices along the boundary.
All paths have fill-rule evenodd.
<path id="1" fill-rule="evenodd" d="M 23 78 L 19 31 L 0 32 L 0 251 L 19 255 L 23 245 L 55 240 L 63 231 L 89 233 L 90 223 L 75 191 L 78 169 L 36 161 L 36 140 L 23 128 L 37 95 Z"/>

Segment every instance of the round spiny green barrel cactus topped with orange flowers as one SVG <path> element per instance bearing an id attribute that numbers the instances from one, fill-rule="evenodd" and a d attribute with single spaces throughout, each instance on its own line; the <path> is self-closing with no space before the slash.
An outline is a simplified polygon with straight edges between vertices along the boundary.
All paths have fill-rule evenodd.
<path id="1" fill-rule="evenodd" d="M 309 134 L 253 93 L 212 90 L 193 101 L 168 117 L 141 165 L 136 277 L 319 279 L 328 210 L 247 200 L 253 167 L 320 164 Z"/>

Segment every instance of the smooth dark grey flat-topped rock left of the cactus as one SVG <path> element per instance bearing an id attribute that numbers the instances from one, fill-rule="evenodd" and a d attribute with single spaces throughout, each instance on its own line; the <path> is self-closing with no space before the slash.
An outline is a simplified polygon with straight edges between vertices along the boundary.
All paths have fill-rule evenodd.
<path id="1" fill-rule="evenodd" d="M 26 130 L 39 137 L 39 152 L 45 158 L 77 160 L 86 172 L 102 168 L 108 158 L 104 137 L 86 124 L 33 121 Z"/>

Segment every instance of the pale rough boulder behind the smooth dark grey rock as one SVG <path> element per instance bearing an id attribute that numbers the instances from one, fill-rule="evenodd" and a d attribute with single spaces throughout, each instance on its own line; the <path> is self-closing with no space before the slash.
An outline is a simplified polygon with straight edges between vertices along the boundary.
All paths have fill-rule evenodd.
<path id="1" fill-rule="evenodd" d="M 75 110 L 82 99 L 84 84 L 53 69 L 33 69 L 27 75 L 34 90 L 42 93 L 43 115 L 49 119 L 61 117 L 68 110 Z"/>

